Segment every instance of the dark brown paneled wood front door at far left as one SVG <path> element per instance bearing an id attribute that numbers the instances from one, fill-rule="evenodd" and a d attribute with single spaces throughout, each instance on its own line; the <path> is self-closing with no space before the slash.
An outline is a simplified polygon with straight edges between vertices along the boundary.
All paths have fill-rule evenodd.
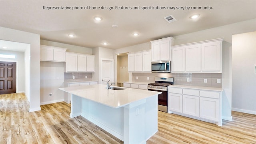
<path id="1" fill-rule="evenodd" d="M 16 62 L 0 62 L 0 94 L 16 93 Z"/>

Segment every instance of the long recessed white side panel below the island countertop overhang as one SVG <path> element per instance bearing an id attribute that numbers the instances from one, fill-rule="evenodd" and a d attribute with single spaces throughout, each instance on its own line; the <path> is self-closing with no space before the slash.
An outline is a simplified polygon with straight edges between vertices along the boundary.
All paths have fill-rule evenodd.
<path id="1" fill-rule="evenodd" d="M 124 140 L 124 108 L 112 108 L 82 98 L 82 116 L 110 134 Z"/>

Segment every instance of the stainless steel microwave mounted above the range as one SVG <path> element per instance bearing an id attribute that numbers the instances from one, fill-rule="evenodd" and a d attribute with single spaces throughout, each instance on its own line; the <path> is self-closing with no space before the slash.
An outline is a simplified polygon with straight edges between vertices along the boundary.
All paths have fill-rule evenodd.
<path id="1" fill-rule="evenodd" d="M 151 62 L 151 72 L 171 72 L 171 61 Z"/>

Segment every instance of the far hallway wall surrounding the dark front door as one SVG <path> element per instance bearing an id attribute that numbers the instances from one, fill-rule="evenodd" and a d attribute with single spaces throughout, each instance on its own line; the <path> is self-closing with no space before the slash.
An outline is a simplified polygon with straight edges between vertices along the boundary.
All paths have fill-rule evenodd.
<path id="1" fill-rule="evenodd" d="M 0 54 L 15 55 L 15 58 L 0 58 L 0 61 L 17 61 L 18 68 L 16 69 L 17 79 L 16 92 L 25 92 L 25 61 L 24 52 L 17 52 L 12 50 L 0 50 Z"/>

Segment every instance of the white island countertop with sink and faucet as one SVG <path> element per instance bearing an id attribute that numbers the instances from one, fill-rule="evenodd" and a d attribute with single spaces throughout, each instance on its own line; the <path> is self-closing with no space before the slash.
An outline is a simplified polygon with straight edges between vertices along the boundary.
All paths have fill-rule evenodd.
<path id="1" fill-rule="evenodd" d="M 119 108 L 132 102 L 136 102 L 138 100 L 149 98 L 151 96 L 162 93 L 134 88 L 125 88 L 125 90 L 107 90 L 106 85 L 103 84 L 75 86 L 59 89 L 70 94 L 74 94 L 76 96 L 80 96 L 82 98 L 110 106 L 112 108 Z"/>

